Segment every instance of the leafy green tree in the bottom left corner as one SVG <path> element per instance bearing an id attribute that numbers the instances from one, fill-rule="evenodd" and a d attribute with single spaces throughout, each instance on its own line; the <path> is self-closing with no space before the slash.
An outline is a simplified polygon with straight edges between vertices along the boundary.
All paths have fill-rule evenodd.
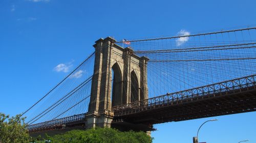
<path id="1" fill-rule="evenodd" d="M 20 115 L 10 118 L 9 115 L 0 112 L 0 142 L 27 143 L 30 136 L 25 127 L 25 118 Z"/>

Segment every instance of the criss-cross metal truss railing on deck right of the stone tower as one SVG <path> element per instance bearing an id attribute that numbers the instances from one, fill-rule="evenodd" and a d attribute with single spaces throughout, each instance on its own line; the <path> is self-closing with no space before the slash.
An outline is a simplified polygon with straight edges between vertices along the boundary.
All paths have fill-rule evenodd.
<path id="1" fill-rule="evenodd" d="M 135 101 L 129 104 L 112 107 L 115 116 L 122 116 L 144 109 L 150 109 L 157 105 L 175 104 L 179 101 L 192 98 L 202 98 L 206 95 L 226 95 L 241 92 L 242 89 L 255 88 L 256 74 L 205 85 L 202 87 L 189 89 L 185 91 L 167 93 L 166 95 Z"/>

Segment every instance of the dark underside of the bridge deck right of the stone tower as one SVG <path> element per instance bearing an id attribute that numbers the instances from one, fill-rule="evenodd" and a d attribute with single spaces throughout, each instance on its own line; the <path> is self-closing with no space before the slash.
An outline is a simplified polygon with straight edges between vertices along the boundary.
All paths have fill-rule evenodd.
<path id="1" fill-rule="evenodd" d="M 256 111 L 256 87 L 243 88 L 230 93 L 222 92 L 207 96 L 188 98 L 166 104 L 137 107 L 122 110 L 115 116 L 113 127 L 119 125 L 153 125 L 191 119 L 230 115 Z M 123 124 L 122 124 L 123 123 Z M 144 128 L 146 129 L 146 128 Z"/>

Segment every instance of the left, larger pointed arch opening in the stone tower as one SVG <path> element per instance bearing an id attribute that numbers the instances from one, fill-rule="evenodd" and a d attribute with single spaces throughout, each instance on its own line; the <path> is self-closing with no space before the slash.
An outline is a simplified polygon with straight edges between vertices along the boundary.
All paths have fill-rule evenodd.
<path id="1" fill-rule="evenodd" d="M 112 66 L 112 89 L 111 102 L 112 106 L 122 104 L 122 74 L 117 63 Z"/>

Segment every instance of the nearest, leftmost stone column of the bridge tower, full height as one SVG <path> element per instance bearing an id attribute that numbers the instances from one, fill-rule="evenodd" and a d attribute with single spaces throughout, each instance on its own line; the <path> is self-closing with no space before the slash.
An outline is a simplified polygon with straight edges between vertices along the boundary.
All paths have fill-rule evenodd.
<path id="1" fill-rule="evenodd" d="M 113 120 L 111 112 L 111 44 L 114 39 L 108 37 L 97 40 L 95 48 L 94 74 L 92 78 L 91 99 L 87 128 L 110 127 Z"/>

